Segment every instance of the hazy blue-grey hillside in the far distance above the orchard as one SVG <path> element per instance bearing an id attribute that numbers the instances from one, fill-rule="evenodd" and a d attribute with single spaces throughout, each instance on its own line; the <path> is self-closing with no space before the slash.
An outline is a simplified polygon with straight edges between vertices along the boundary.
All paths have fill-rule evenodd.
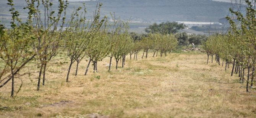
<path id="1" fill-rule="evenodd" d="M 24 0 L 14 0 L 16 9 L 22 9 L 26 4 Z M 72 0 L 75 1 L 75 0 Z M 57 2 L 55 0 L 55 2 Z M 212 0 L 98 0 L 86 1 L 88 13 L 95 10 L 97 2 L 103 3 L 102 14 L 115 12 L 122 19 L 139 22 L 166 22 L 166 21 L 201 21 L 217 22 L 218 19 L 228 15 L 230 3 Z M 9 13 L 7 0 L 0 0 L 0 16 Z M 70 2 L 70 12 L 74 6 L 81 6 L 82 2 Z M 109 17 L 110 18 L 110 17 Z"/>

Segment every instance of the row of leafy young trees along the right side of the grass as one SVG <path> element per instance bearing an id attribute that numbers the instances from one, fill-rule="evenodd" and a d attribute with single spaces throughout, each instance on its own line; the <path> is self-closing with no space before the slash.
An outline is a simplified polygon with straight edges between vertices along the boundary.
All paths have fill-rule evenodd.
<path id="1" fill-rule="evenodd" d="M 203 43 L 208 59 L 209 56 L 219 63 L 222 59 L 222 66 L 225 63 L 225 70 L 229 67 L 229 63 L 233 63 L 231 76 L 236 73 L 240 77 L 239 80 L 244 83 L 246 80 L 246 91 L 253 87 L 255 78 L 255 61 L 256 61 L 256 10 L 249 0 L 245 0 L 246 14 L 240 11 L 234 11 L 230 8 L 230 12 L 236 19 L 226 17 L 230 23 L 228 34 L 216 34 L 208 38 Z M 238 22 L 235 22 L 238 21 Z M 213 59 L 212 59 L 213 62 Z M 247 79 L 246 76 L 247 75 Z M 251 79 L 251 81 L 250 81 Z"/>

